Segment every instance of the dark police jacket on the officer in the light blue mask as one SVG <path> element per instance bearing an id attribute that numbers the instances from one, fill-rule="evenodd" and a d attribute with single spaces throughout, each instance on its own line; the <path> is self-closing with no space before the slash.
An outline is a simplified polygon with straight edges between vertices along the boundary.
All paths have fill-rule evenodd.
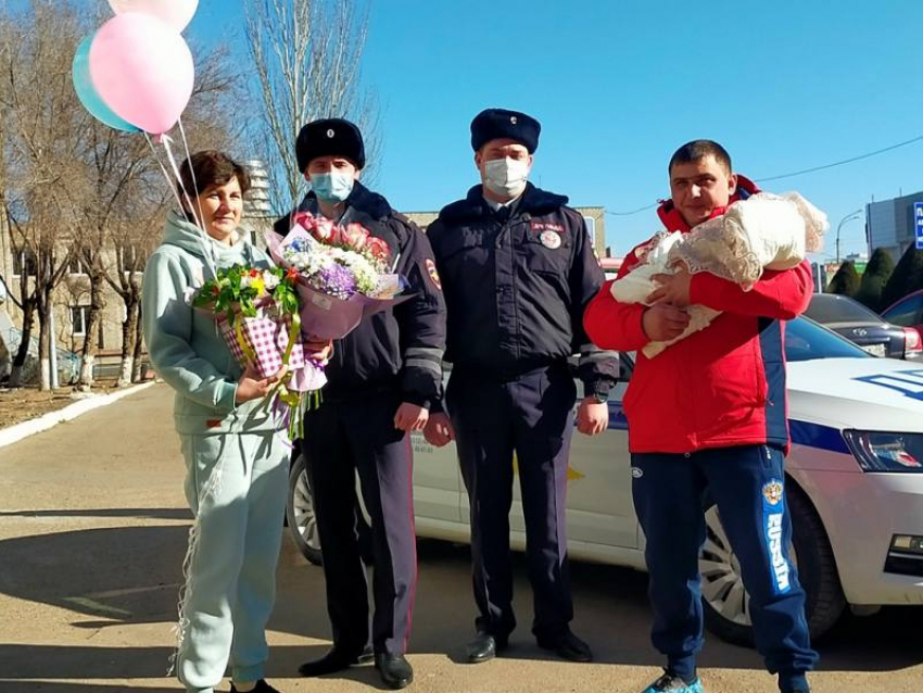
<path id="1" fill-rule="evenodd" d="M 298 211 L 317 212 L 313 192 Z M 291 215 L 276 222 L 280 236 L 289 231 Z M 342 223 L 357 222 L 388 243 L 394 272 L 413 298 L 365 318 L 338 340 L 327 366 L 323 396 L 346 400 L 370 391 L 397 391 L 404 402 L 429 407 L 442 396 L 442 355 L 445 349 L 445 303 L 426 235 L 391 209 L 380 194 L 358 181 L 346 199 Z"/>

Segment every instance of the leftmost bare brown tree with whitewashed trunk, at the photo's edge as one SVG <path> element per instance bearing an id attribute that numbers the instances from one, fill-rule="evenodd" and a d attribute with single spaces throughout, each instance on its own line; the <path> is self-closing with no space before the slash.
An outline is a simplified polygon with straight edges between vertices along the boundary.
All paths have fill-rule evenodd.
<path id="1" fill-rule="evenodd" d="M 67 49 L 76 47 L 83 30 L 69 10 L 66 3 L 34 1 L 0 17 L 0 106 L 7 113 L 2 204 L 13 245 L 35 269 L 33 278 L 28 272 L 21 277 L 24 333 L 16 361 L 24 362 L 35 311 L 42 389 L 50 387 L 52 295 L 73 253 L 67 240 L 78 218 L 73 202 L 83 188 L 80 142 L 89 117 L 81 115 L 71 85 L 73 51 Z"/>

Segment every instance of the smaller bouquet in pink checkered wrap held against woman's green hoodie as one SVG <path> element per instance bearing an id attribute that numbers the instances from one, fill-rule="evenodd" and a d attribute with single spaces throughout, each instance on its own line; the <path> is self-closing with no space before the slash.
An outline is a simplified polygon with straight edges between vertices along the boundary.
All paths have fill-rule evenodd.
<path id="1" fill-rule="evenodd" d="M 193 307 L 215 315 L 242 367 L 253 366 L 262 378 L 282 371 L 268 399 L 290 438 L 300 436 L 304 411 L 327 382 L 324 364 L 304 354 L 296 280 L 292 269 L 235 265 L 219 268 L 191 297 Z"/>

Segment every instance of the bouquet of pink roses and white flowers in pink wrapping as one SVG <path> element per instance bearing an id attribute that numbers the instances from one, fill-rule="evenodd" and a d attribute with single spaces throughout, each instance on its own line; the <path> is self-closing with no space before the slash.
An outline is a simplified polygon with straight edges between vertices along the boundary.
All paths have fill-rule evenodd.
<path id="1" fill-rule="evenodd" d="M 299 212 L 288 236 L 270 235 L 267 243 L 273 259 L 296 276 L 302 331 L 314 339 L 342 339 L 364 317 L 409 298 L 397 297 L 403 282 L 389 272 L 388 244 L 361 224 Z"/>

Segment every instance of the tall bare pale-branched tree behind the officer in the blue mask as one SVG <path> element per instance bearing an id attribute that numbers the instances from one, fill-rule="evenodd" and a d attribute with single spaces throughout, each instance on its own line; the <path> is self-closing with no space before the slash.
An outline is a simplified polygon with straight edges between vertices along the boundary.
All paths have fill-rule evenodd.
<path id="1" fill-rule="evenodd" d="M 262 103 L 260 126 L 268 138 L 257 152 L 266 161 L 270 204 L 283 212 L 304 194 L 294 158 L 301 127 L 316 118 L 350 117 L 363 130 L 369 161 L 379 149 L 378 106 L 363 89 L 359 68 L 368 12 L 356 0 L 252 0 L 246 38 Z"/>

